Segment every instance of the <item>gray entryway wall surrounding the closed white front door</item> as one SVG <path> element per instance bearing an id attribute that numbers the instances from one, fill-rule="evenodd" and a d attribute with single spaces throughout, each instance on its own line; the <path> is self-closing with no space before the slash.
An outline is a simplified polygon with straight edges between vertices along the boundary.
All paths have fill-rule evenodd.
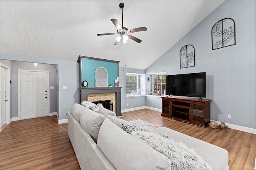
<path id="1" fill-rule="evenodd" d="M 50 86 L 53 86 L 54 89 L 50 90 L 50 113 L 57 112 L 57 74 L 56 74 L 56 65 L 53 64 L 41 64 L 37 63 L 35 66 L 34 63 L 23 62 L 23 61 L 11 61 L 11 60 L 0 60 L 1 63 L 4 63 L 10 66 L 11 70 L 11 117 L 18 117 L 18 69 L 25 70 L 46 70 L 49 71 L 49 80 Z"/>

